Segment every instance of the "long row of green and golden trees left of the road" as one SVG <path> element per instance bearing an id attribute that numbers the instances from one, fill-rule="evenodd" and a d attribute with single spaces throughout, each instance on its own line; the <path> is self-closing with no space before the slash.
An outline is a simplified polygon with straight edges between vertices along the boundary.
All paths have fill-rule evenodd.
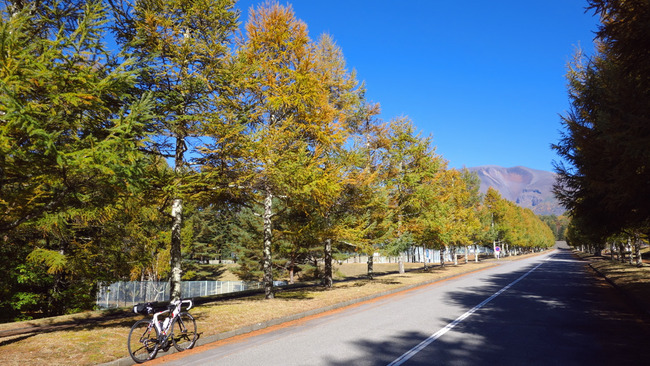
<path id="1" fill-rule="evenodd" d="M 271 298 L 279 276 L 331 286 L 354 253 L 372 276 L 377 252 L 553 244 L 412 121 L 380 120 L 291 6 L 239 19 L 234 0 L 4 2 L 4 319 L 92 308 L 123 279 L 169 279 L 177 298 L 211 259 Z"/>

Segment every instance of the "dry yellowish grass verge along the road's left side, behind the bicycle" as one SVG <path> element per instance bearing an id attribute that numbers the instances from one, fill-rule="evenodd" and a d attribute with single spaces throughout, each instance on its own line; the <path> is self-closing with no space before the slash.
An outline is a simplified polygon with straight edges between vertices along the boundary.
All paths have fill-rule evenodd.
<path id="1" fill-rule="evenodd" d="M 354 279 L 335 282 L 332 289 L 310 287 L 281 291 L 271 300 L 264 300 L 262 295 L 220 300 L 197 306 L 190 312 L 197 320 L 201 337 L 207 337 L 495 264 L 494 259 L 468 264 L 462 261 L 458 266 L 447 264 L 444 268 L 434 266 L 423 270 L 422 264 L 408 263 L 407 269 L 411 267 L 411 271 L 387 274 L 397 271 L 397 264 L 375 263 L 374 280 L 363 278 L 365 263 L 343 264 L 336 268 L 337 276 Z M 0 364 L 94 365 L 128 357 L 128 333 L 141 317 L 124 310 L 93 311 L 0 324 Z M 20 334 L 10 333 L 21 332 L 21 329 Z"/>

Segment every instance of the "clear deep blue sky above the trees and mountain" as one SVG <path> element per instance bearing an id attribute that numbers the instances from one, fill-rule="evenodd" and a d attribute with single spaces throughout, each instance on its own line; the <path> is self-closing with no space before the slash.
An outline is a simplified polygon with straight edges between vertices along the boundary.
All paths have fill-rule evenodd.
<path id="1" fill-rule="evenodd" d="M 242 23 L 260 3 L 239 2 Z M 450 167 L 553 170 L 567 62 L 593 52 L 586 0 L 287 3 L 312 39 L 332 35 L 380 117 L 409 117 Z"/>

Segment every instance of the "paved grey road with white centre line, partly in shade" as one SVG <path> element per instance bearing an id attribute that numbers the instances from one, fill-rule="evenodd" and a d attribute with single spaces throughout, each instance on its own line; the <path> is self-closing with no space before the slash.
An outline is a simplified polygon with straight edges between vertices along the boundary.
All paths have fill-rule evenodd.
<path id="1" fill-rule="evenodd" d="M 568 250 L 370 301 L 166 365 L 640 365 L 647 323 Z"/>

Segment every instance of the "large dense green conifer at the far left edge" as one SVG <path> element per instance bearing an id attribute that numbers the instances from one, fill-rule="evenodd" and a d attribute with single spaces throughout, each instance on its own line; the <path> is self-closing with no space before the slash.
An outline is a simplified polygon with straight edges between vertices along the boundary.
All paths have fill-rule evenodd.
<path id="1" fill-rule="evenodd" d="M 0 232 L 7 285 L 42 314 L 88 308 L 97 281 L 124 273 L 113 222 L 150 164 L 150 101 L 130 94 L 133 61 L 103 44 L 107 16 L 101 1 L 2 8 Z"/>

